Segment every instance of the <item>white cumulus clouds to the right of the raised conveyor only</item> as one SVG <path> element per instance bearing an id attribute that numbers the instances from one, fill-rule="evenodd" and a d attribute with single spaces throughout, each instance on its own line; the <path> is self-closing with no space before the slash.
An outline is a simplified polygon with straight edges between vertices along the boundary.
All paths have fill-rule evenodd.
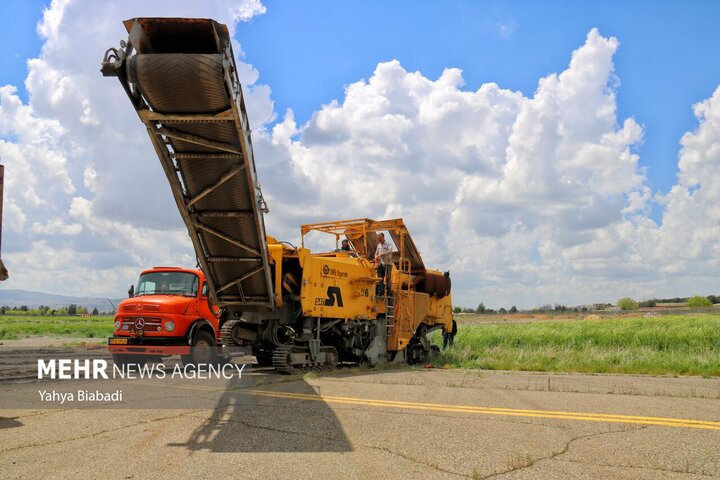
<path id="1" fill-rule="evenodd" d="M 402 216 L 426 262 L 453 272 L 466 306 L 685 294 L 689 276 L 711 291 L 711 277 L 672 252 L 684 243 L 708 269 L 718 258 L 711 199 L 690 200 L 705 195 L 695 183 L 714 177 L 689 167 L 717 165 L 707 140 L 719 137 L 717 107 L 695 107 L 701 127 L 683 139 L 681 181 L 656 225 L 638 166 L 643 129 L 617 116 L 618 47 L 591 30 L 567 69 L 539 79 L 530 97 L 496 84 L 470 91 L 458 69 L 433 80 L 379 64 L 305 125 L 290 111 L 256 138 L 276 212 L 268 225 L 295 239 L 303 221 Z M 678 215 L 680 205 L 694 214 Z"/>

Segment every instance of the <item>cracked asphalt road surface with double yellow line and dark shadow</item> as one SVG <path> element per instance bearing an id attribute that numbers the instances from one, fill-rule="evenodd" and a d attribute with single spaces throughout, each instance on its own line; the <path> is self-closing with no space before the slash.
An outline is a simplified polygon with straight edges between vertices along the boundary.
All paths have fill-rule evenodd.
<path id="1" fill-rule="evenodd" d="M 720 379 L 407 368 L 253 379 L 243 405 L 0 410 L 0 477 L 720 476 Z"/>

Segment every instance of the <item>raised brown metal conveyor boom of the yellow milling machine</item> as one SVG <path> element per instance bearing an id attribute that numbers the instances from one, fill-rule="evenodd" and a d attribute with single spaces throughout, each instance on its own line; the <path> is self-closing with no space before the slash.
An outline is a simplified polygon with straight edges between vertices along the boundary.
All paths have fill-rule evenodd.
<path id="1" fill-rule="evenodd" d="M 102 72 L 117 76 L 172 187 L 208 281 L 231 310 L 274 307 L 263 212 L 242 89 L 225 25 L 134 18 Z"/>

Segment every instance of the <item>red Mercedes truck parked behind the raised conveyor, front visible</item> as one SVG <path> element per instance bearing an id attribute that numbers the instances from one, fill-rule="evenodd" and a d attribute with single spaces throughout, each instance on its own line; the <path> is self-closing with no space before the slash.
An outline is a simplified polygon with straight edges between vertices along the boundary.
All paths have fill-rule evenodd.
<path id="1" fill-rule="evenodd" d="M 183 363 L 213 363 L 221 352 L 220 310 L 207 296 L 201 270 L 154 267 L 118 305 L 108 349 L 116 364 L 181 355 Z"/>

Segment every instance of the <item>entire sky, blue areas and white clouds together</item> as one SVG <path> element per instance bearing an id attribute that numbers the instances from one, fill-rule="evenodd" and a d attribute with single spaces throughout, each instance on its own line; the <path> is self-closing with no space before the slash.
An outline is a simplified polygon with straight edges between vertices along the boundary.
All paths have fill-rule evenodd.
<path id="1" fill-rule="evenodd" d="M 461 305 L 718 293 L 717 1 L 2 0 L 3 288 L 93 278 L 112 296 L 148 265 L 194 264 L 141 124 L 99 73 L 121 21 L 158 13 L 229 24 L 257 71 L 244 89 L 274 236 L 402 216 Z"/>

